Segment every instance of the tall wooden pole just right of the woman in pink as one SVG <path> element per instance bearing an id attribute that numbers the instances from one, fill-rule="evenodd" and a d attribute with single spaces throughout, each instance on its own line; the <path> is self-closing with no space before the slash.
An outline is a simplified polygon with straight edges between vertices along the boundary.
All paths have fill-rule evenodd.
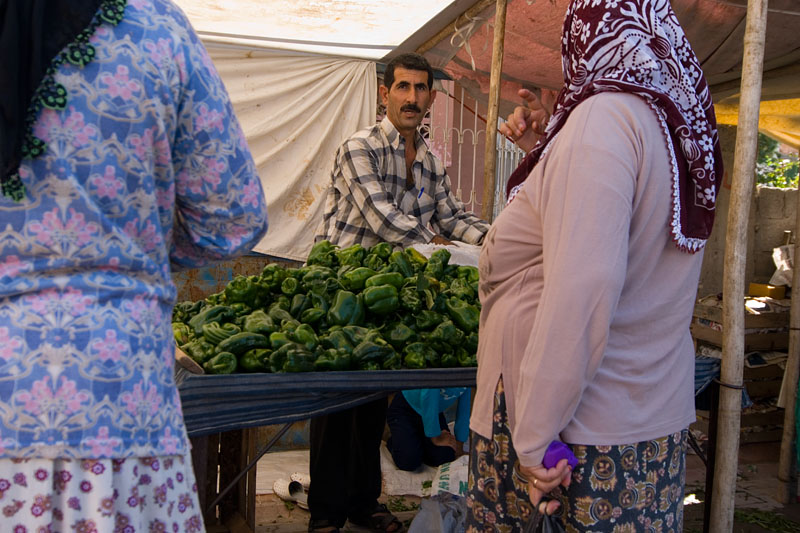
<path id="1" fill-rule="evenodd" d="M 748 0 L 744 35 L 739 127 L 733 164 L 733 186 L 725 237 L 723 274 L 722 374 L 719 393 L 717 463 L 711 501 L 712 533 L 733 531 L 736 471 L 739 463 L 742 372 L 744 369 L 744 274 L 747 226 L 758 142 L 761 73 L 767 26 L 767 0 Z M 718 179 L 721 179 L 719 176 Z"/>

